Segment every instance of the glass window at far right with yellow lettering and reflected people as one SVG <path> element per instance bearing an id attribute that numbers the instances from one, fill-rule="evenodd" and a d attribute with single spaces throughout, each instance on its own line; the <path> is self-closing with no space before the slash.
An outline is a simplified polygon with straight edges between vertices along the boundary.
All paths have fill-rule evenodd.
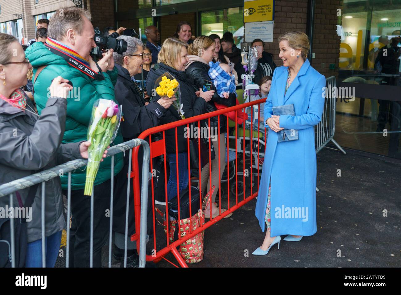
<path id="1" fill-rule="evenodd" d="M 357 4 L 344 2 L 337 27 L 340 81 L 401 86 L 401 4 L 391 10 L 377 1 Z"/>

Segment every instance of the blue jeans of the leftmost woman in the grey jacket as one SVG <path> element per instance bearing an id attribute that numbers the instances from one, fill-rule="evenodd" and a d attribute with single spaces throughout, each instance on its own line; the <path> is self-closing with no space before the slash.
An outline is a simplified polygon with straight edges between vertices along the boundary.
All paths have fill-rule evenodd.
<path id="1" fill-rule="evenodd" d="M 54 267 L 59 256 L 61 231 L 45 238 L 46 267 Z M 42 267 L 42 239 L 28 243 L 25 267 Z"/>

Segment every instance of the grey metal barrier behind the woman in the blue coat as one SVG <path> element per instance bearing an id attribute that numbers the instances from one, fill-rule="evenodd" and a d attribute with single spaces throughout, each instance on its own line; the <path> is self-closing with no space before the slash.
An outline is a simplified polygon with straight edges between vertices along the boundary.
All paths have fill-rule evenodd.
<path id="1" fill-rule="evenodd" d="M 336 130 L 336 99 L 338 92 L 334 92 L 333 95 L 331 89 L 337 87 L 335 76 L 326 78 L 326 87 L 328 91 L 324 102 L 322 120 L 315 126 L 316 154 L 332 141 L 345 155 L 346 151 L 333 139 L 334 131 Z"/>

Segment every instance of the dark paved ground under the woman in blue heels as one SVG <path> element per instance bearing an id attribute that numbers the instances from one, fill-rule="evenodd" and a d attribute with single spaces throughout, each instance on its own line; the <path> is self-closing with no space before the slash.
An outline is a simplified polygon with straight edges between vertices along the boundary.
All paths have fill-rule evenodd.
<path id="1" fill-rule="evenodd" d="M 266 256 L 253 256 L 251 253 L 264 238 L 254 215 L 253 200 L 231 218 L 206 230 L 205 257 L 189 266 L 400 267 L 401 165 L 391 158 L 371 156 L 343 155 L 327 148 L 318 153 L 318 231 L 313 236 L 300 242 L 282 240 L 279 250 L 273 246 Z M 336 176 L 338 169 L 341 177 Z M 387 210 L 387 217 L 383 210 Z M 158 225 L 158 248 L 165 244 L 163 234 Z M 152 248 L 153 240 L 148 245 Z M 107 248 L 103 253 L 105 266 Z M 176 263 L 172 254 L 166 258 Z M 60 258 L 57 265 L 64 263 Z M 113 260 L 113 267 L 118 266 Z M 173 267 L 165 260 L 157 266 Z"/>

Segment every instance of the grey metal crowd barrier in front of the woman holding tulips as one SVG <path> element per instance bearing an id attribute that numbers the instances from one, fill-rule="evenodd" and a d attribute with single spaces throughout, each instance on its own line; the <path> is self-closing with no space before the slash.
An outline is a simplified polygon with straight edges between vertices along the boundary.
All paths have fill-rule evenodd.
<path id="1" fill-rule="evenodd" d="M 107 150 L 107 157 L 111 157 L 111 191 L 110 191 L 110 236 L 109 236 L 109 267 L 111 267 L 111 239 L 113 230 L 113 179 L 114 179 L 114 155 L 117 153 L 124 153 L 130 150 L 129 158 L 129 171 L 128 171 L 128 185 L 127 185 L 127 206 L 126 206 L 126 240 L 124 249 L 124 267 L 127 266 L 127 243 L 128 243 L 128 202 L 130 197 L 130 183 L 131 183 L 131 167 L 132 167 L 132 149 L 136 146 L 142 145 L 144 149 L 143 165 L 142 165 L 142 189 L 141 189 L 141 211 L 146 212 L 148 206 L 148 175 L 149 173 L 149 158 L 150 148 L 148 142 L 143 139 L 132 139 L 121 144 L 112 146 Z M 42 223 L 42 267 L 45 267 L 45 182 L 52 178 L 59 177 L 59 171 L 62 169 L 63 173 L 68 172 L 68 195 L 67 195 L 67 254 L 66 254 L 66 267 L 69 267 L 69 242 L 70 242 L 70 227 L 69 220 L 71 217 L 71 171 L 87 165 L 87 160 L 76 159 L 69 161 L 62 165 L 55 166 L 51 169 L 35 173 L 21 179 L 16 179 L 9 183 L 0 185 L 0 197 L 10 196 L 10 208 L 13 208 L 14 193 L 20 189 L 26 189 L 32 185 L 41 183 L 42 196 L 41 196 L 41 223 Z M 142 213 L 142 212 L 141 212 Z M 142 220 L 142 217 L 144 220 Z M 142 226 L 144 224 L 144 226 Z M 15 236 L 14 236 L 14 218 L 10 218 L 11 230 L 11 265 L 15 267 Z M 144 230 L 144 232 L 142 232 Z M 146 258 L 146 214 L 141 214 L 141 247 L 139 252 L 140 264 L 139 267 L 145 267 Z M 93 192 L 91 195 L 91 242 L 90 242 L 90 267 L 93 267 Z"/>

